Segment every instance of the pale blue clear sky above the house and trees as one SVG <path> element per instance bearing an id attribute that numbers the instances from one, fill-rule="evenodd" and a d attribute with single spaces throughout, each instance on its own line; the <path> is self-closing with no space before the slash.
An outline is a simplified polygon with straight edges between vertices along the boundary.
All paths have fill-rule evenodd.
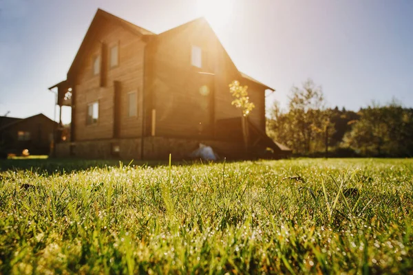
<path id="1" fill-rule="evenodd" d="M 413 107 L 412 0 L 0 0 L 0 115 L 53 118 L 47 87 L 97 8 L 156 33 L 204 16 L 238 69 L 277 90 L 267 106 L 313 78 L 333 107 Z"/>

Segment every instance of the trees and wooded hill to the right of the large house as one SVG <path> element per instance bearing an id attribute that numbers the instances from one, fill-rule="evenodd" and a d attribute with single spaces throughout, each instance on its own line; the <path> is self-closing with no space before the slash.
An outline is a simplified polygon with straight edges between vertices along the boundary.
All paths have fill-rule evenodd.
<path id="1" fill-rule="evenodd" d="M 359 111 L 326 106 L 321 87 L 307 80 L 290 91 L 288 110 L 275 102 L 267 133 L 295 155 L 329 157 L 412 157 L 413 109 L 372 102 Z"/>

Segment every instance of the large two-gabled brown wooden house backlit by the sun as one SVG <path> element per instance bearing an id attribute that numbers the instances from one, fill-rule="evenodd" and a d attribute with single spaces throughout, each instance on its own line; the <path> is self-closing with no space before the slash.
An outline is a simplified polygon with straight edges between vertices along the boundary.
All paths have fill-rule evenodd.
<path id="1" fill-rule="evenodd" d="M 248 85 L 255 104 L 248 152 L 233 80 Z M 154 34 L 98 10 L 67 80 L 50 89 L 60 107 L 72 107 L 57 156 L 182 158 L 200 142 L 222 157 L 281 150 L 265 133 L 265 92 L 274 89 L 239 72 L 203 18 Z"/>

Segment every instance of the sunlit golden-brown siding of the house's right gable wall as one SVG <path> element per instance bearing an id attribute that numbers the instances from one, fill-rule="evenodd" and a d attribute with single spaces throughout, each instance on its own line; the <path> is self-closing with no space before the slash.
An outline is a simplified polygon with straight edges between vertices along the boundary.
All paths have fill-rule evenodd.
<path id="1" fill-rule="evenodd" d="M 202 48 L 202 68 L 191 65 L 192 45 Z M 229 93 L 229 83 L 240 74 L 206 21 L 160 34 L 149 46 L 147 87 L 151 109 L 156 109 L 156 135 L 211 136 L 216 120 L 240 116 Z M 209 96 L 200 95 L 203 85 Z"/>

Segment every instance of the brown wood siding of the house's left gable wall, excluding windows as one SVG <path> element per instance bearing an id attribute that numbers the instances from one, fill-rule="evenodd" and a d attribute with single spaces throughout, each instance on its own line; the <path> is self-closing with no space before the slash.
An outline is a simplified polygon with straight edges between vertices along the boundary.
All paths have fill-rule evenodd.
<path id="1" fill-rule="evenodd" d="M 98 27 L 98 28 L 97 28 Z M 95 25 L 96 31 L 90 36 L 88 47 L 83 53 L 82 62 L 75 72 L 76 86 L 74 96 L 74 127 L 76 140 L 93 140 L 114 136 L 114 81 L 120 83 L 119 137 L 138 137 L 141 133 L 142 90 L 143 90 L 143 57 L 145 43 L 139 36 L 121 26 L 101 19 Z M 110 68 L 100 65 L 100 74 L 93 74 L 93 57 L 109 51 L 105 47 L 118 44 L 118 66 Z M 109 56 L 100 57 L 109 61 Z M 106 72 L 102 72 L 106 69 Z M 105 79 L 102 80 L 101 76 Z M 103 87 L 102 87 L 103 86 Z M 138 91 L 138 115 L 129 118 L 127 93 Z M 99 102 L 99 118 L 96 124 L 87 125 L 87 104 Z"/>

